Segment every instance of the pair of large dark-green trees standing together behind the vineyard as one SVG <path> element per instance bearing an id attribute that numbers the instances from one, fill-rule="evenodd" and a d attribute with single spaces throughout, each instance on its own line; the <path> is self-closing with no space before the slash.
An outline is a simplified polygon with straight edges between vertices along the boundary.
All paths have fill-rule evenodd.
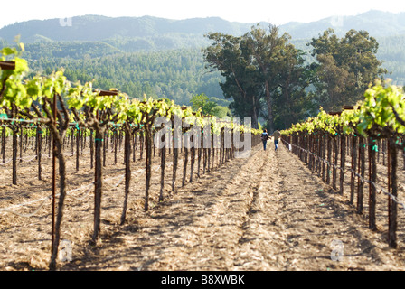
<path id="1" fill-rule="evenodd" d="M 270 132 L 316 115 L 319 107 L 340 110 L 353 106 L 375 79 L 387 70 L 377 59 L 379 44 L 366 31 L 348 31 L 343 38 L 327 29 L 306 45 L 310 55 L 290 43 L 278 26 L 252 26 L 232 36 L 209 33 L 203 49 L 206 68 L 220 71 L 225 98 L 235 115 L 267 119 Z M 312 57 L 312 58 L 311 58 Z"/>

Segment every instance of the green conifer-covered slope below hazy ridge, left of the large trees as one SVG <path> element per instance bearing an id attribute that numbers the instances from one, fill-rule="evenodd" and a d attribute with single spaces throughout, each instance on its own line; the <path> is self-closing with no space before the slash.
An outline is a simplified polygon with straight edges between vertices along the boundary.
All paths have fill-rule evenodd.
<path id="1" fill-rule="evenodd" d="M 219 73 L 204 74 L 198 50 L 120 53 L 100 58 L 41 58 L 33 61 L 34 71 L 50 74 L 63 67 L 72 82 L 92 82 L 100 89 L 118 89 L 130 98 L 173 99 L 188 105 L 195 94 L 222 96 Z"/>

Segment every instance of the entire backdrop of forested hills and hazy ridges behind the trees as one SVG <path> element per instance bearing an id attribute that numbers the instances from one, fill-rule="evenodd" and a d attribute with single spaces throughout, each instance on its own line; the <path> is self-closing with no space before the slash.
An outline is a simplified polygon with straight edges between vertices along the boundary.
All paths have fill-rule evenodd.
<path id="1" fill-rule="evenodd" d="M 255 24 L 218 17 L 170 20 L 86 15 L 73 17 L 71 23 L 51 19 L 5 26 L 0 29 L 0 47 L 14 44 L 14 37 L 20 35 L 24 58 L 34 71 L 64 67 L 69 79 L 94 79 L 100 89 L 113 86 L 137 98 L 146 93 L 189 104 L 195 94 L 223 98 L 220 74 L 203 70 L 201 48 L 210 44 L 204 34 L 242 35 Z M 290 42 L 305 51 L 311 50 L 306 43 L 328 28 L 338 35 L 350 29 L 370 33 L 380 43 L 377 56 L 383 67 L 392 71 L 394 82 L 405 84 L 405 14 L 370 11 L 279 27 L 280 32 L 291 35 Z"/>

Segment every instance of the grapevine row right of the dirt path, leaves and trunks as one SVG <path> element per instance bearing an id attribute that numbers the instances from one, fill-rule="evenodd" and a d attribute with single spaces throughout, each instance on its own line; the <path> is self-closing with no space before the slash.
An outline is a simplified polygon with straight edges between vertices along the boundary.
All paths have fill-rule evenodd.
<path id="1" fill-rule="evenodd" d="M 350 202 L 357 193 L 356 211 L 363 213 L 363 186 L 369 184 L 369 228 L 376 230 L 376 194 L 383 192 L 388 198 L 388 243 L 397 247 L 398 206 L 405 205 L 398 199 L 398 156 L 405 151 L 405 95 L 401 88 L 389 81 L 376 81 L 364 94 L 364 99 L 354 107 L 344 107 L 342 112 L 326 113 L 320 109 L 316 117 L 291 126 L 282 132 L 285 144 L 291 144 L 294 154 L 328 184 L 344 194 L 344 174 L 351 173 Z M 387 148 L 388 183 L 377 184 L 377 154 L 381 144 Z M 350 154 L 347 154 L 347 152 Z M 385 153 L 385 152 L 384 152 Z M 346 157 L 351 156 L 347 165 Z M 368 172 L 365 176 L 366 155 Z M 384 161 L 385 164 L 385 161 Z M 329 173 L 331 172 L 331 173 Z M 331 179 L 332 177 L 332 179 Z M 357 180 L 357 188 L 355 182 Z"/>

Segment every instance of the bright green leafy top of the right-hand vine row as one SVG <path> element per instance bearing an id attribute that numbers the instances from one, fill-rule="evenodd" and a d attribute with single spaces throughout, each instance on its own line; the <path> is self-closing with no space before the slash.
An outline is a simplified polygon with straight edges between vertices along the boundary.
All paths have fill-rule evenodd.
<path id="1" fill-rule="evenodd" d="M 316 117 L 297 123 L 282 131 L 284 135 L 313 134 L 316 131 L 330 135 L 363 135 L 397 137 L 405 133 L 405 94 L 403 89 L 390 83 L 376 81 L 352 110 L 341 115 L 330 115 L 321 107 Z"/>

